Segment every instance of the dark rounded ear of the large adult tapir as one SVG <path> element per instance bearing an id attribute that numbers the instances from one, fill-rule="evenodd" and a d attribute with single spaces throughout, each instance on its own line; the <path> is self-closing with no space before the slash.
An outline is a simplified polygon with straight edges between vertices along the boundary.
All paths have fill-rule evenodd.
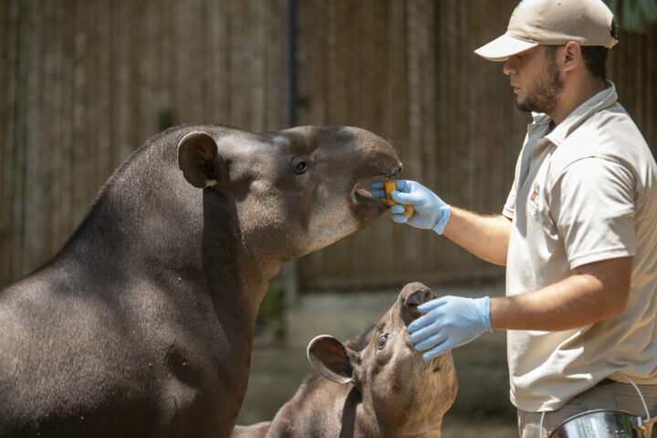
<path id="1" fill-rule="evenodd" d="M 178 165 L 185 179 L 194 187 L 210 187 L 226 174 L 224 159 L 219 155 L 214 139 L 195 130 L 178 143 Z"/>

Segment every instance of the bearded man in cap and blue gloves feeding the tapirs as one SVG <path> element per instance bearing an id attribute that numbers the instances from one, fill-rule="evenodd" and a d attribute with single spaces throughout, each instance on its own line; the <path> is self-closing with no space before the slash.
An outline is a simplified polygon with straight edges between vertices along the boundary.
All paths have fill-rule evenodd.
<path id="1" fill-rule="evenodd" d="M 592 409 L 657 414 L 657 166 L 605 79 L 617 43 L 601 0 L 525 0 L 506 34 L 475 53 L 504 60 L 533 123 L 502 214 L 444 203 L 420 183 L 391 193 L 412 204 L 398 223 L 433 229 L 506 266 L 506 297 L 441 297 L 409 326 L 426 359 L 505 329 L 511 401 L 523 438 Z M 373 195 L 383 197 L 381 184 Z"/>

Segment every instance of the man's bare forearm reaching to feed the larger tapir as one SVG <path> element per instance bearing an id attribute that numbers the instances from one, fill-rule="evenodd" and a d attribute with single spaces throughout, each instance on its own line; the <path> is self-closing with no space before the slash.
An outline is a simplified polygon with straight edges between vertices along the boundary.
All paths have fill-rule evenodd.
<path id="1" fill-rule="evenodd" d="M 502 214 L 482 215 L 451 208 L 443 235 L 487 262 L 506 266 L 511 221 Z"/>

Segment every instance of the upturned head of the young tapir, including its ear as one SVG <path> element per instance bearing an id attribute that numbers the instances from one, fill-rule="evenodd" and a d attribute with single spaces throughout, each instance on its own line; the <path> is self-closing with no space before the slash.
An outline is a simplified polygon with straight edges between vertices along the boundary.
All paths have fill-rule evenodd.
<path id="1" fill-rule="evenodd" d="M 407 326 L 422 315 L 417 307 L 433 298 L 422 283 L 403 287 L 373 329 L 369 344 L 360 351 L 329 336 L 319 336 L 308 345 L 313 368 L 330 381 L 353 384 L 390 436 L 394 431 L 408 436 L 436 435 L 429 431 L 440 430 L 443 413 L 456 397 L 452 354 L 423 360 L 409 341 Z"/>

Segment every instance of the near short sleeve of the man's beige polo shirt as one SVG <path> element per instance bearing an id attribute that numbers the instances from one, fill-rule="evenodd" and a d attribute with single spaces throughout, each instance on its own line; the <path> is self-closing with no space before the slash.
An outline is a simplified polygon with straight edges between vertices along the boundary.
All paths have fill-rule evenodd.
<path id="1" fill-rule="evenodd" d="M 604 157 L 568 164 L 550 190 L 550 210 L 570 268 L 635 255 L 635 179 Z"/>

